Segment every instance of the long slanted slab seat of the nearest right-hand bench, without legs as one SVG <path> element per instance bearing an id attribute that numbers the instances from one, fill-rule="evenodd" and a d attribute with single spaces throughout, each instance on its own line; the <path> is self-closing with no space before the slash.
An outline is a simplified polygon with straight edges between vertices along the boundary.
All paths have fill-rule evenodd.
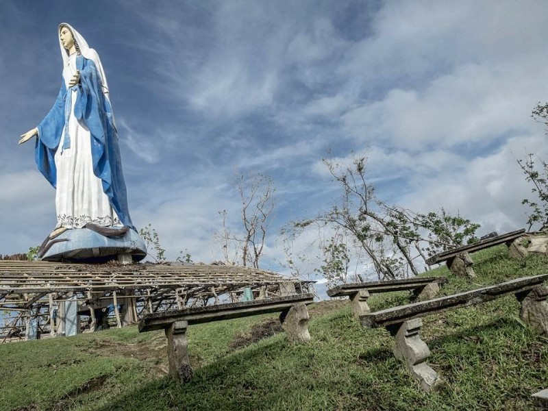
<path id="1" fill-rule="evenodd" d="M 455 295 L 448 295 L 447 297 L 438 297 L 419 303 L 411 303 L 406 306 L 387 308 L 386 310 L 371 312 L 370 314 L 360 316 L 360 323 L 364 327 L 386 327 L 387 325 L 399 324 L 403 323 L 403 321 L 415 319 L 420 316 L 483 303 L 497 299 L 504 294 L 517 294 L 532 290 L 547 279 L 548 274 L 522 277 L 494 286 L 460 292 L 460 294 Z"/>

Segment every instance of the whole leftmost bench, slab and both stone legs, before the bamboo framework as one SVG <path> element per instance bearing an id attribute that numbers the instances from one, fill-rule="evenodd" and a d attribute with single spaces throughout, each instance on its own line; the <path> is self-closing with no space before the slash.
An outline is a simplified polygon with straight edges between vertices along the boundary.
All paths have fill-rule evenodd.
<path id="1" fill-rule="evenodd" d="M 192 379 L 192 367 L 188 360 L 188 341 L 186 339 L 186 329 L 189 325 L 281 312 L 279 321 L 288 338 L 291 341 L 306 341 L 310 340 L 306 305 L 313 301 L 313 294 L 302 294 L 155 312 L 147 314 L 141 319 L 139 332 L 154 329 L 165 330 L 169 374 L 179 382 L 188 382 Z"/>

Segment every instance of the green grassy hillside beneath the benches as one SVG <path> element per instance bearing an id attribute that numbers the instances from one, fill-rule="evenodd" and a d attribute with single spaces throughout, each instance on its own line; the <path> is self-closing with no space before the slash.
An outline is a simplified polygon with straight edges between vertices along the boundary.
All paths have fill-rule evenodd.
<path id="1" fill-rule="evenodd" d="M 443 294 L 548 272 L 548 259 L 475 253 L 477 279 Z M 429 275 L 449 275 L 445 268 Z M 373 310 L 408 302 L 375 295 Z M 445 386 L 423 393 L 384 329 L 364 329 L 348 301 L 310 307 L 312 341 L 291 345 L 275 316 L 191 326 L 195 379 L 166 377 L 163 332 L 136 327 L 0 345 L 0 410 L 527 410 L 548 387 L 548 338 L 519 319 L 513 296 L 423 318 L 428 362 Z M 274 334 L 258 340 L 264 335 Z"/>

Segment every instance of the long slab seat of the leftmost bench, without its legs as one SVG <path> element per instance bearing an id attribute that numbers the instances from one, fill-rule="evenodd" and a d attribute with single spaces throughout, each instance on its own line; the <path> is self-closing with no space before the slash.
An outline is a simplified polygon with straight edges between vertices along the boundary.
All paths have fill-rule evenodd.
<path id="1" fill-rule="evenodd" d="M 166 329 L 175 321 L 186 321 L 188 325 L 209 323 L 236 319 L 243 316 L 267 314 L 288 310 L 299 303 L 311 304 L 314 302 L 313 294 L 289 295 L 286 297 L 274 297 L 269 299 L 256 299 L 253 301 L 241 301 L 238 303 L 218 304 L 216 306 L 192 307 L 182 310 L 170 310 L 155 312 L 143 316 L 139 321 L 139 332 L 152 331 L 154 329 Z"/>

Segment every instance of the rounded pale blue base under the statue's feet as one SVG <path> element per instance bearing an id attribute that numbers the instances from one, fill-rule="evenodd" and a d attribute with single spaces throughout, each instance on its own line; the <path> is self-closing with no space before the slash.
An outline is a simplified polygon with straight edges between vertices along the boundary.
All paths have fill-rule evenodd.
<path id="1" fill-rule="evenodd" d="M 67 229 L 51 240 L 44 261 L 106 262 L 120 260 L 140 261 L 147 256 L 147 247 L 133 229 L 120 237 L 107 237 L 87 228 Z"/>

